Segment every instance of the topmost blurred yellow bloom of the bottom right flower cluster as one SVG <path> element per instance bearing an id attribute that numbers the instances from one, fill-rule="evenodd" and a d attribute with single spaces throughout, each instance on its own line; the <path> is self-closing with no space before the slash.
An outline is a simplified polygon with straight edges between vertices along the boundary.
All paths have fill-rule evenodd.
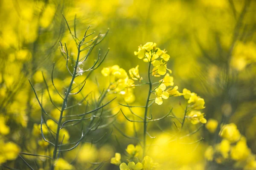
<path id="1" fill-rule="evenodd" d="M 221 128 L 219 135 L 229 140 L 231 143 L 237 142 L 241 138 L 241 134 L 234 123 L 224 125 Z"/>

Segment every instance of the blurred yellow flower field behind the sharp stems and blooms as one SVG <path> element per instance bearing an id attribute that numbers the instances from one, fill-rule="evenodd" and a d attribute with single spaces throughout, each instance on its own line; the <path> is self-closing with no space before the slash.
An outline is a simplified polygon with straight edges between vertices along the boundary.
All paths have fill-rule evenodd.
<path id="1" fill-rule="evenodd" d="M 40 124 L 41 108 L 29 85 L 31 79 L 38 94 L 45 94 L 47 111 L 58 118 L 58 111 L 47 98 L 44 79 L 51 82 L 51 71 L 55 62 L 54 81 L 58 88 L 67 86 L 70 77 L 66 70 L 65 59 L 61 55 L 59 41 L 67 43 L 67 48 L 76 54 L 76 44 L 69 34 L 62 14 L 74 27 L 76 15 L 77 34 L 82 37 L 88 26 L 90 33 L 105 34 L 106 38 L 97 46 L 102 54 L 108 48 L 110 52 L 100 68 L 93 72 L 82 92 L 98 91 L 108 86 L 101 75 L 103 67 L 119 65 L 128 71 L 140 65 L 140 76 L 146 77 L 147 64 L 134 56 L 139 45 L 155 42 L 170 55 L 168 68 L 172 70 L 175 85 L 181 92 L 187 88 L 204 98 L 207 120 L 218 121 L 217 129 L 210 132 L 201 128 L 195 135 L 184 139 L 186 142 L 167 142 L 175 132 L 173 118 L 169 117 L 148 126 L 151 136 L 148 139 L 152 147 L 148 154 L 163 164 L 164 170 L 231 170 L 254 169 L 256 161 L 256 1 L 254 0 L 0 0 L 0 143 L 12 141 L 20 150 L 44 153 L 38 146 L 40 135 L 36 136 L 35 124 Z M 93 36 L 95 37 L 96 34 Z M 92 37 L 92 38 L 93 38 Z M 97 49 L 91 57 L 97 57 Z M 86 65 L 85 65 L 86 66 Z M 80 79 L 80 78 L 79 78 Z M 81 80 L 76 82 L 79 84 Z M 97 81 L 96 81 L 97 79 Z M 52 99 L 61 104 L 59 96 L 53 91 Z M 134 89 L 133 105 L 145 105 L 147 90 L 144 87 Z M 99 94 L 96 94 L 96 96 Z M 82 96 L 78 96 L 78 100 Z M 111 96 L 109 97 L 111 99 Z M 122 99 L 118 99 L 122 101 Z M 183 117 L 182 98 L 170 98 L 163 105 L 151 110 L 154 118 L 165 115 L 169 108 L 177 117 Z M 117 102 L 111 103 L 111 113 L 119 110 Z M 70 112 L 79 112 L 82 108 Z M 79 110 L 80 109 L 80 110 Z M 143 110 L 134 108 L 138 114 Z M 66 113 L 69 114 L 69 113 Z M 209 122 L 209 121 L 208 121 Z M 205 150 L 210 145 L 221 142 L 218 133 L 221 125 L 234 123 L 246 138 L 246 148 L 252 156 L 251 166 L 245 159 L 207 159 Z M 138 124 L 138 123 L 136 123 Z M 199 127 L 189 127 L 193 131 Z M 119 114 L 115 122 L 123 133 L 138 136 L 143 125 L 134 125 Z M 180 126 L 180 125 L 179 125 Z M 9 129 L 6 131 L 6 129 Z M 70 141 L 77 139 L 77 128 L 67 128 Z M 113 133 L 108 139 L 90 144 L 90 138 L 99 139 L 105 132 Z M 33 133 L 33 137 L 31 134 Z M 195 142 L 201 137 L 204 140 Z M 118 170 L 109 159 L 115 152 L 122 153 L 134 139 L 125 138 L 119 131 L 109 126 L 96 131 L 82 147 L 83 159 L 75 164 L 76 169 L 89 169 L 86 162 L 107 161 L 102 167 L 106 170 Z M 40 145 L 40 144 L 39 144 Z M 0 146 L 1 148 L 1 146 Z M 241 148 L 241 150 L 244 150 Z M 77 149 L 63 153 L 71 162 Z M 0 151 L 0 158 L 1 155 Z M 25 156 L 24 156 L 25 157 Z M 45 159 L 26 159 L 35 164 L 36 169 L 44 167 Z M 243 162 L 243 163 L 241 163 Z M 0 160 L 9 167 L 26 169 L 22 160 Z M 246 167 L 247 166 L 247 167 Z M 4 169 L 4 167 L 2 167 Z"/>

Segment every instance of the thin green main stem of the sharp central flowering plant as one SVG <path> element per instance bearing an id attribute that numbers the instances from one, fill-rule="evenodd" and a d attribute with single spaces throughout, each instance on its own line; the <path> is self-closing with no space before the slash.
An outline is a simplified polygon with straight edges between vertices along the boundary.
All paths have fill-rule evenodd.
<path id="1" fill-rule="evenodd" d="M 151 90 L 152 90 L 152 83 L 151 83 L 151 79 L 150 79 L 150 66 L 151 66 L 151 61 L 149 62 L 148 65 L 148 97 L 147 97 L 147 101 L 146 101 L 146 105 L 145 105 L 145 113 L 144 113 L 144 122 L 143 122 L 143 127 L 144 127 L 144 131 L 143 131 L 143 158 L 145 156 L 145 151 L 146 151 L 146 135 L 147 135 L 147 113 L 148 113 L 148 102 L 150 101 L 150 95 L 151 95 Z"/>

